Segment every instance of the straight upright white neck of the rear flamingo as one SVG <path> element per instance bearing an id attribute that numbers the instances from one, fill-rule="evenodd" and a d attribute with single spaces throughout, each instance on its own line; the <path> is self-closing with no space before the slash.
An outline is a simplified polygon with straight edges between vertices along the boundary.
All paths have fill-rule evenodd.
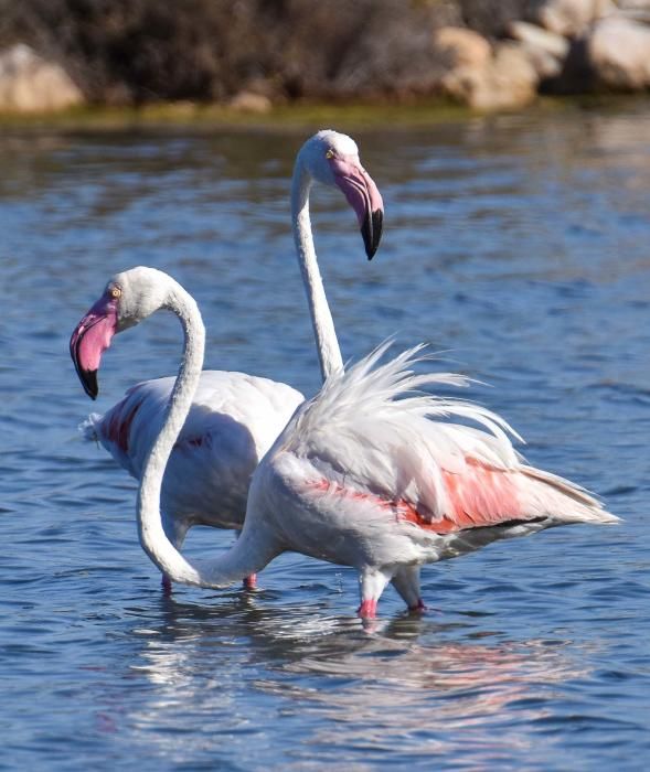
<path id="1" fill-rule="evenodd" d="M 328 305 L 328 299 L 322 286 L 322 279 L 316 259 L 313 237 L 311 235 L 311 222 L 309 219 L 309 191 L 311 179 L 305 169 L 300 158 L 296 162 L 294 180 L 291 184 L 291 222 L 294 226 L 294 240 L 298 253 L 298 262 L 302 274 L 302 281 L 307 292 L 309 313 L 316 335 L 316 346 L 320 362 L 322 379 L 326 380 L 333 373 L 343 371 L 341 349 L 337 340 L 334 321 Z"/>

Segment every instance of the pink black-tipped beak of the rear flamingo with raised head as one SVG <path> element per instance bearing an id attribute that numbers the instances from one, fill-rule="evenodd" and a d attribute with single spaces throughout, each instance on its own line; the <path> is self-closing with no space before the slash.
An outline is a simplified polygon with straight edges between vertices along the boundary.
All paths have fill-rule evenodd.
<path id="1" fill-rule="evenodd" d="M 329 159 L 337 185 L 356 213 L 367 259 L 372 260 L 380 246 L 384 222 L 382 194 L 370 174 L 353 157 Z"/>

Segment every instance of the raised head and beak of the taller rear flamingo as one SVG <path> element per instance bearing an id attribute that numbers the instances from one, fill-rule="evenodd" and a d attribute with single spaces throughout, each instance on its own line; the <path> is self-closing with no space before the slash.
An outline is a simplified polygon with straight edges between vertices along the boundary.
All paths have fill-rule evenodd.
<path id="1" fill-rule="evenodd" d="M 298 158 L 315 180 L 343 192 L 356 214 L 365 254 L 372 260 L 382 238 L 384 203 L 361 165 L 356 142 L 348 135 L 323 129 L 305 142 Z"/>

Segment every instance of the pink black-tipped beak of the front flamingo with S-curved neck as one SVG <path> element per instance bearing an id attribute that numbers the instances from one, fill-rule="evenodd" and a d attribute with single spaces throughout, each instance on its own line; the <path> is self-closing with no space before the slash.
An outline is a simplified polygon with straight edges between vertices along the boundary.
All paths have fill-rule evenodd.
<path id="1" fill-rule="evenodd" d="M 104 294 L 75 328 L 70 354 L 84 390 L 92 399 L 99 394 L 97 371 L 102 354 L 117 331 L 117 299 Z"/>

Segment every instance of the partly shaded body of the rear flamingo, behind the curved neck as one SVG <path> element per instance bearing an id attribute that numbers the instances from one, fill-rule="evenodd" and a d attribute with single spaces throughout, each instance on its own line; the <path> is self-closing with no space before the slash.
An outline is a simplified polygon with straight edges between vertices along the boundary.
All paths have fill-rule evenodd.
<path id="1" fill-rule="evenodd" d="M 137 384 L 83 427 L 136 479 L 162 426 L 174 380 Z M 204 371 L 166 470 L 162 508 L 195 523 L 241 527 L 251 475 L 302 400 L 286 384 Z"/>

